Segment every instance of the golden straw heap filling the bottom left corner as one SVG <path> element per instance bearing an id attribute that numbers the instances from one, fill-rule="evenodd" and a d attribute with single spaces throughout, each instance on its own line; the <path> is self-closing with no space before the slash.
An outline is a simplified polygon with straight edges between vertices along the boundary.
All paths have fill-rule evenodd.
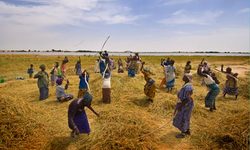
<path id="1" fill-rule="evenodd" d="M 40 149 L 46 141 L 43 125 L 24 116 L 26 105 L 0 101 L 0 149 Z"/>

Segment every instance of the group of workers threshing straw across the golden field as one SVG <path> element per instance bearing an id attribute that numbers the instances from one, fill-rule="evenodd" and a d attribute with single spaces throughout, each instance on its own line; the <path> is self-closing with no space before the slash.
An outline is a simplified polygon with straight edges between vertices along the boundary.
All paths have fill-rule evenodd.
<path id="1" fill-rule="evenodd" d="M 53 69 L 51 70 L 51 85 L 56 84 L 56 96 L 60 102 L 68 101 L 73 99 L 72 94 L 66 94 L 69 85 L 69 80 L 66 79 L 66 64 L 69 62 L 68 58 L 65 57 L 62 61 L 62 66 L 56 62 Z M 95 66 L 95 72 L 100 73 L 102 77 L 102 100 L 103 103 L 111 103 L 111 74 L 112 70 L 115 69 L 114 60 L 109 57 L 107 51 L 100 52 L 100 57 L 96 61 L 98 64 Z M 161 60 L 161 66 L 164 70 L 164 78 L 160 84 L 160 88 L 165 86 L 167 92 L 171 92 L 175 85 L 176 68 L 174 66 L 175 61 L 167 58 Z M 141 67 L 140 67 L 141 66 Z M 98 68 L 97 68 L 98 67 Z M 238 85 L 237 85 L 237 73 L 232 73 L 232 69 L 228 67 L 224 71 L 224 66 L 221 66 L 221 72 L 226 73 L 226 83 L 223 90 L 223 96 L 235 95 L 236 99 L 238 96 Z M 48 98 L 49 92 L 49 75 L 45 71 L 45 65 L 40 66 L 41 71 L 34 75 L 34 78 L 38 78 L 38 87 L 40 91 L 40 100 Z M 141 60 L 139 54 L 136 53 L 134 56 L 130 55 L 126 59 L 126 67 L 123 67 L 122 60 L 118 59 L 118 73 L 124 73 L 124 69 L 128 71 L 129 77 L 135 77 L 136 74 L 141 72 L 144 76 L 146 84 L 144 85 L 144 93 L 148 97 L 149 102 L 153 102 L 156 94 L 155 80 L 152 78 L 154 75 L 150 68 L 145 67 L 145 62 Z M 177 94 L 177 104 L 174 111 L 173 125 L 178 128 L 181 133 L 176 135 L 177 138 L 184 138 L 190 135 L 190 118 L 194 107 L 194 101 L 192 98 L 193 85 L 192 85 L 192 74 L 191 74 L 191 61 L 187 61 L 183 71 L 183 86 Z M 27 73 L 32 77 L 34 70 L 33 65 L 30 66 Z M 94 114 L 99 114 L 91 107 L 92 95 L 89 89 L 89 73 L 86 70 L 81 70 L 81 60 L 79 59 L 75 65 L 76 75 L 79 76 L 79 91 L 78 96 L 74 99 L 68 108 L 68 125 L 72 130 L 71 136 L 75 137 L 80 133 L 90 133 L 90 127 L 85 113 L 84 108 L 89 108 Z M 212 112 L 216 110 L 216 97 L 218 96 L 220 89 L 216 75 L 210 69 L 208 63 L 201 61 L 197 68 L 197 74 L 202 78 L 202 84 L 206 85 L 209 89 L 207 96 L 205 97 L 205 107 L 208 107 Z M 62 82 L 66 80 L 65 87 L 62 87 Z"/>

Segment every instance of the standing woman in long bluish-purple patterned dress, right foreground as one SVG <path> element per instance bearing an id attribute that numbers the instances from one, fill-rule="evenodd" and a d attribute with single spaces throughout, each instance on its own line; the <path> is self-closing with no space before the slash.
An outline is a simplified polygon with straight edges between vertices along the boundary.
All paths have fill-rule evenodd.
<path id="1" fill-rule="evenodd" d="M 173 125 L 178 128 L 181 133 L 176 135 L 176 138 L 184 138 L 190 135 L 190 118 L 194 107 L 192 76 L 185 74 L 182 78 L 185 82 L 181 90 L 178 92 L 178 102 L 174 111 Z"/>

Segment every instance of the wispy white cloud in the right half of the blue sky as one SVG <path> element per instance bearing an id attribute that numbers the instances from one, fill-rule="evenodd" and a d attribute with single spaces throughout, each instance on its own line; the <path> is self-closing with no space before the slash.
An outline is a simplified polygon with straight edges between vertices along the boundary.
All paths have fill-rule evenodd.
<path id="1" fill-rule="evenodd" d="M 177 10 L 169 18 L 159 22 L 166 25 L 209 25 L 216 21 L 223 14 L 223 11 L 205 11 L 190 13 L 184 10 Z"/>

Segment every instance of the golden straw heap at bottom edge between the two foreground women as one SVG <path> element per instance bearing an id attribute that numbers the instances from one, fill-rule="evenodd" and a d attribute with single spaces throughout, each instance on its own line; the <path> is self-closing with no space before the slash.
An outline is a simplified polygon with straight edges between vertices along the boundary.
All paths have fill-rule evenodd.
<path id="1" fill-rule="evenodd" d="M 100 114 L 81 149 L 156 149 L 155 124 L 142 112 L 109 109 Z"/>

